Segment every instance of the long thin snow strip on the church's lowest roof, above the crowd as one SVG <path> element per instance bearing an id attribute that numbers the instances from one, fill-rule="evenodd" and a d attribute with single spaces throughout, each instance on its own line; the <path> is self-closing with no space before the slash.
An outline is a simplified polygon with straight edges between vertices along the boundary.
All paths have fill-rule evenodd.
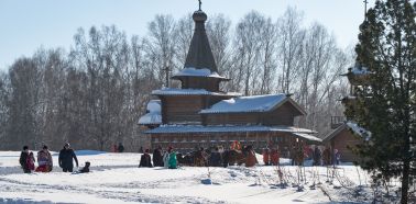
<path id="1" fill-rule="evenodd" d="M 285 132 L 315 134 L 316 132 L 291 126 L 262 126 L 262 125 L 162 125 L 146 133 L 228 133 L 228 132 Z"/>

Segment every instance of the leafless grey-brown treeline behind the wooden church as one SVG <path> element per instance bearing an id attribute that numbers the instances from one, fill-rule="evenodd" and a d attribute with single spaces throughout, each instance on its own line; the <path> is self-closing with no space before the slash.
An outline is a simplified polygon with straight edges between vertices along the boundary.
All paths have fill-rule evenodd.
<path id="1" fill-rule="evenodd" d="M 293 93 L 308 115 L 303 127 L 321 134 L 348 86 L 339 75 L 353 61 L 319 23 L 304 25 L 288 8 L 273 20 L 252 11 L 237 23 L 223 14 L 206 24 L 215 60 L 231 80 L 222 90 L 245 95 Z M 69 50 L 40 48 L 0 72 L 0 149 L 52 149 L 69 141 L 77 149 L 109 150 L 123 141 L 139 149 L 139 117 L 151 91 L 178 87 L 169 76 L 183 68 L 194 32 L 191 14 L 156 15 L 145 36 L 129 37 L 114 25 L 79 29 Z"/>

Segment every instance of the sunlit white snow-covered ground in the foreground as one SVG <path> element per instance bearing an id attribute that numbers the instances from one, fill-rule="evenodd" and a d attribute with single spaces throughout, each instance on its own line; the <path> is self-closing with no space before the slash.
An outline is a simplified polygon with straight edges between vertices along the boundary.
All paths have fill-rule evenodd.
<path id="1" fill-rule="evenodd" d="M 18 151 L 0 151 L 0 203 L 371 203 L 370 177 L 353 166 L 255 168 L 138 168 L 140 154 L 77 151 L 91 172 L 24 174 Z M 261 161 L 261 156 L 259 156 Z M 287 162 L 287 160 L 283 160 Z M 212 184 L 204 184 L 208 179 Z M 300 177 L 299 177 L 300 178 Z M 300 188 L 297 186 L 300 183 Z M 315 188 L 314 188 L 315 183 Z"/>

